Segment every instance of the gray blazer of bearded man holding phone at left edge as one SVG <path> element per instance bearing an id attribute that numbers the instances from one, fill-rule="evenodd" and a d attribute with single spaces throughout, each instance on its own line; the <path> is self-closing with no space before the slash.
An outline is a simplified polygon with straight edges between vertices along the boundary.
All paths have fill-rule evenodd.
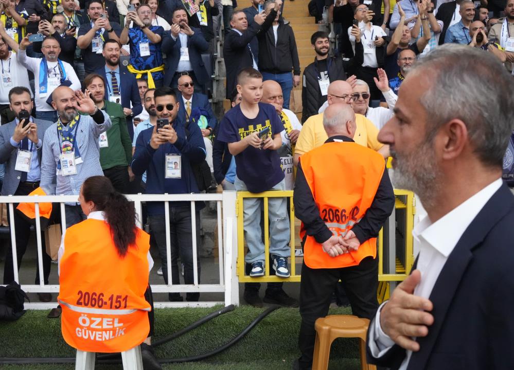
<path id="1" fill-rule="evenodd" d="M 34 124 L 38 125 L 38 138 L 42 141 L 45 137 L 46 129 L 54 124 L 54 122 L 44 121 L 32 117 Z M 8 124 L 0 126 L 0 163 L 5 163 L 4 186 L 2 187 L 2 195 L 13 195 L 20 185 L 20 177 L 22 172 L 16 171 L 16 155 L 18 147 L 13 147 L 10 138 L 14 134 L 16 120 L 10 121 Z M 44 143 L 43 143 L 44 144 Z M 38 160 L 41 165 L 42 149 L 38 149 Z"/>

